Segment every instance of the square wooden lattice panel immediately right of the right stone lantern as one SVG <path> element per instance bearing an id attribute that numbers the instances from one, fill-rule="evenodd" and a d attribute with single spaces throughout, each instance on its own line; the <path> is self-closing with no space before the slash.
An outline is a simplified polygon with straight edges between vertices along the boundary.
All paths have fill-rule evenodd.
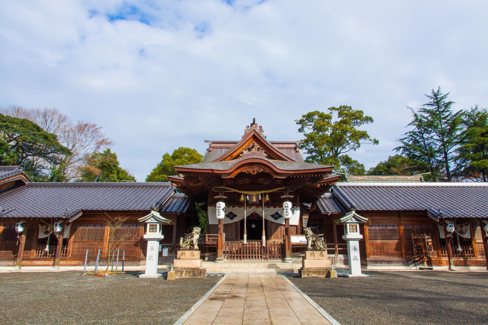
<path id="1" fill-rule="evenodd" d="M 398 224 L 367 226 L 370 256 L 402 256 Z"/>

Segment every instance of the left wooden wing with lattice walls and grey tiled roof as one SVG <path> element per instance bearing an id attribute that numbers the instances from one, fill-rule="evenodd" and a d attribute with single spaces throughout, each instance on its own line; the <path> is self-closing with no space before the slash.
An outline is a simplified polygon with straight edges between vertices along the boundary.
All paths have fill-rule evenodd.
<path id="1" fill-rule="evenodd" d="M 121 239 L 117 248 L 125 265 L 143 265 L 147 241 L 138 219 L 150 210 L 171 220 L 162 226 L 168 254 L 160 252 L 160 262 L 167 264 L 179 238 L 198 225 L 193 201 L 170 183 L 16 182 L 0 192 L 1 266 L 79 266 L 85 257 L 93 265 L 99 249 L 103 264 L 111 246 L 109 218 L 123 219 L 114 238 Z M 16 231 L 18 222 L 23 231 Z M 62 230 L 56 233 L 58 222 Z"/>

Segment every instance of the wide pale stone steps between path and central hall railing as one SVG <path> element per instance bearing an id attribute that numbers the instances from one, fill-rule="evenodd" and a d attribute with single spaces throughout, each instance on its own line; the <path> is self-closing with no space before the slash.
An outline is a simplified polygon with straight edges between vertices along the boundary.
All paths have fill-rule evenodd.
<path id="1" fill-rule="evenodd" d="M 229 261 L 216 263 L 204 261 L 207 273 L 298 273 L 302 267 L 302 259 L 294 259 L 293 263 L 279 261 Z"/>

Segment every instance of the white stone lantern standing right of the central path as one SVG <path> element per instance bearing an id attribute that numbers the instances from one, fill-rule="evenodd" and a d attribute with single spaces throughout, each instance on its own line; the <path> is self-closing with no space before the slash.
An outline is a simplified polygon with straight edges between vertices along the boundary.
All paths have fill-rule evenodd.
<path id="1" fill-rule="evenodd" d="M 366 276 L 361 274 L 361 255 L 359 253 L 359 240 L 363 235 L 359 233 L 359 224 L 366 223 L 367 218 L 361 217 L 356 211 L 347 212 L 344 217 L 335 223 L 344 224 L 344 239 L 347 242 L 347 256 L 349 260 L 349 278 Z"/>

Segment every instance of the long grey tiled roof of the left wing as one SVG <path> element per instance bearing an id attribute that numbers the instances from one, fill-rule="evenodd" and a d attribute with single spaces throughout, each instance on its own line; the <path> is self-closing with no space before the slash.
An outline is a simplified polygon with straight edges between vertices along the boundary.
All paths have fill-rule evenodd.
<path id="1" fill-rule="evenodd" d="M 171 183 L 27 183 L 0 193 L 0 217 L 59 218 L 79 211 L 144 211 L 159 206 L 174 191 Z"/>

